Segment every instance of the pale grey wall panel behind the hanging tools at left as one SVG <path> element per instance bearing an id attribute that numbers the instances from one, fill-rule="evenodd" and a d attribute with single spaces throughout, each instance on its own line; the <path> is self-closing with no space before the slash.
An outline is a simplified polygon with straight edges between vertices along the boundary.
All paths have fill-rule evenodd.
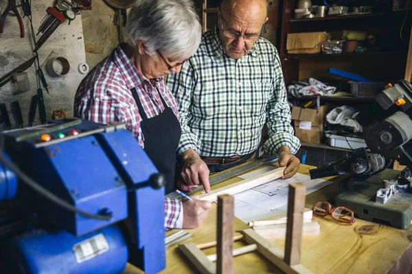
<path id="1" fill-rule="evenodd" d="M 99 2 L 99 1 L 93 1 Z M 19 1 L 18 1 L 19 3 Z M 32 19 L 34 32 L 47 15 L 46 9 L 52 6 L 53 0 L 36 0 L 32 1 Z M 0 11 L 3 12 L 8 1 L 0 1 Z M 18 8 L 19 13 L 23 16 L 23 10 Z M 30 21 L 27 17 L 23 18 L 25 27 L 25 37 L 20 37 L 19 23 L 15 16 L 7 16 L 3 34 L 0 34 L 0 77 L 12 71 L 16 67 L 23 64 L 34 56 L 33 41 L 30 31 Z M 91 28 L 91 27 L 90 27 Z M 36 36 L 38 39 L 41 36 Z M 52 77 L 45 69 L 46 61 L 49 57 L 61 56 L 69 61 L 69 73 L 60 77 Z M 78 71 L 79 64 L 84 63 L 84 38 L 83 27 L 80 15 L 71 21 L 65 20 L 49 37 L 45 44 L 38 50 L 38 57 L 41 67 L 45 74 L 47 84 L 49 85 L 49 95 L 43 88 L 45 109 L 47 121 L 52 119 L 54 110 L 63 110 L 67 116 L 73 116 L 73 99 L 76 89 L 84 77 L 84 74 Z M 34 64 L 26 71 L 29 75 L 30 90 L 26 92 L 16 92 L 15 85 L 12 82 L 5 84 L 0 88 L 0 101 L 5 103 L 8 108 L 12 128 L 16 128 L 16 123 L 12 118 L 11 103 L 19 101 L 23 114 L 24 125 L 27 126 L 28 113 L 30 109 L 30 100 L 36 95 L 36 69 Z M 38 119 L 38 108 L 34 125 L 40 124 Z M 0 125 L 0 130 L 3 130 L 3 125 Z"/>

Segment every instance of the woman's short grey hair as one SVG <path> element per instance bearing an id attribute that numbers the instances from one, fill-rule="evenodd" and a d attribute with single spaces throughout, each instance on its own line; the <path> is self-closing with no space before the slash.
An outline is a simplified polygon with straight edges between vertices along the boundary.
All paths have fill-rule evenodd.
<path id="1" fill-rule="evenodd" d="M 128 13 L 126 35 L 133 47 L 143 41 L 149 55 L 159 49 L 185 60 L 200 45 L 202 27 L 191 0 L 138 0 Z"/>

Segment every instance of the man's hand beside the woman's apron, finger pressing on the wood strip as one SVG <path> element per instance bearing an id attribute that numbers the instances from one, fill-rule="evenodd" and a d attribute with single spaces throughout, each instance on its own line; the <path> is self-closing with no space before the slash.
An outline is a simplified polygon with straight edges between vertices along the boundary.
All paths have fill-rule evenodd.
<path id="1" fill-rule="evenodd" d="M 183 184 L 178 182 L 178 187 L 183 191 L 189 191 L 193 187 L 203 185 L 205 191 L 209 192 L 209 169 L 198 153 L 194 149 L 187 149 L 187 151 L 182 153 L 182 160 L 183 169 L 181 177 Z"/>

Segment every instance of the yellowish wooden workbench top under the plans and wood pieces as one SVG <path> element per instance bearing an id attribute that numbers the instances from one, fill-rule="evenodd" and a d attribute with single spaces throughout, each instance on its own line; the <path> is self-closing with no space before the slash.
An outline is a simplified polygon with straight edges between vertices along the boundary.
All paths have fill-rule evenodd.
<path id="1" fill-rule="evenodd" d="M 309 175 L 313 166 L 301 165 L 299 173 Z M 396 175 L 399 171 L 387 170 L 385 173 Z M 338 183 L 342 177 L 330 179 L 334 184 L 306 196 L 306 207 L 312 208 L 315 201 L 332 201 L 336 195 Z M 233 178 L 214 188 L 239 182 Z M 185 242 L 201 244 L 216 240 L 217 205 L 213 204 L 205 223 L 197 229 L 188 229 L 192 237 Z M 301 263 L 313 273 L 409 273 L 412 265 L 412 227 L 407 230 L 395 229 L 356 219 L 352 225 L 340 225 L 330 216 L 321 219 L 314 216 L 313 221 L 321 225 L 321 234 L 303 236 Z M 236 230 L 247 228 L 247 224 L 235 220 Z M 237 234 L 235 234 L 237 235 Z M 284 238 L 270 240 L 280 249 L 284 249 Z M 244 242 L 235 242 L 234 248 Z M 207 255 L 216 253 L 216 249 L 204 250 Z M 279 270 L 257 252 L 248 253 L 234 259 L 234 273 L 280 273 Z M 170 247 L 166 253 L 166 269 L 161 273 L 196 273 L 176 247 Z M 128 264 L 124 273 L 143 273 Z"/>

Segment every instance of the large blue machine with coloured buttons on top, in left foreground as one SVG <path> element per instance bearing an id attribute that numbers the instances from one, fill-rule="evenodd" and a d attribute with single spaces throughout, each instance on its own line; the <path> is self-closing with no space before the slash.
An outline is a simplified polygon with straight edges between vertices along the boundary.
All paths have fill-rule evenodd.
<path id="1" fill-rule="evenodd" d="M 0 273 L 165 268 L 164 180 L 124 125 L 62 119 L 0 145 Z"/>

